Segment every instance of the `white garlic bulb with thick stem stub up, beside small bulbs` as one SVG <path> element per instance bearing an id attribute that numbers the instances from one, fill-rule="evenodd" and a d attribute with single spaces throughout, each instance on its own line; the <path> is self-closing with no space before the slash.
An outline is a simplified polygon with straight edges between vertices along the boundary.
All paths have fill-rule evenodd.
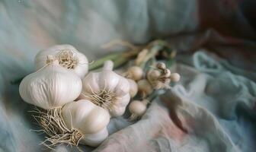
<path id="1" fill-rule="evenodd" d="M 82 80 L 82 97 L 108 109 L 111 116 L 121 116 L 130 101 L 130 84 L 112 71 L 113 62 L 104 63 L 100 72 L 90 72 Z"/>

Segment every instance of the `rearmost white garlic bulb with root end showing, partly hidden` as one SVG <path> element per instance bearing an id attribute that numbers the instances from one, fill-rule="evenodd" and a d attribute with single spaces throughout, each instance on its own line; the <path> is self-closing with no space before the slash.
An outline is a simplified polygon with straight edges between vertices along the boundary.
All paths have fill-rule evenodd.
<path id="1" fill-rule="evenodd" d="M 75 72 L 80 78 L 84 78 L 88 73 L 88 59 L 71 45 L 52 46 L 38 52 L 34 61 L 37 70 L 46 65 L 47 55 L 53 55 L 59 61 L 59 65 Z"/>

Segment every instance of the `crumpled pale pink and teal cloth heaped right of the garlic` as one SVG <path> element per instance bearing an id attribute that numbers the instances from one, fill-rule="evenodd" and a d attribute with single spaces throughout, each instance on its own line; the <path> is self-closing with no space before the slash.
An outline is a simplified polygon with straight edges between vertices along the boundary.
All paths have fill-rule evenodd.
<path id="1" fill-rule="evenodd" d="M 176 67 L 179 84 L 95 151 L 254 151 L 255 82 L 232 74 L 205 50 L 190 60 L 196 67 Z"/>

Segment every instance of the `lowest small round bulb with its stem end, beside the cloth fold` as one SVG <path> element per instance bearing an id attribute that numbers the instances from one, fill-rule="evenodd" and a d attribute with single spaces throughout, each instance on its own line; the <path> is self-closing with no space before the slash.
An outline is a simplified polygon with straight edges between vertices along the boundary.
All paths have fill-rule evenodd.
<path id="1" fill-rule="evenodd" d="M 130 120 L 134 120 L 142 116 L 146 112 L 148 103 L 149 100 L 133 100 L 129 105 L 129 111 L 132 113 Z"/>

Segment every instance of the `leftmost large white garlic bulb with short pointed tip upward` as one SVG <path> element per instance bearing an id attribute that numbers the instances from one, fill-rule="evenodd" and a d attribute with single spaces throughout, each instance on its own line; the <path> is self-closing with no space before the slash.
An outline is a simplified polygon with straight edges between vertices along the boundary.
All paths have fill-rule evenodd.
<path id="1" fill-rule="evenodd" d="M 43 109 L 53 109 L 75 100 L 82 90 L 82 81 L 74 73 L 59 65 L 49 56 L 50 62 L 28 74 L 19 87 L 21 98 Z"/>

